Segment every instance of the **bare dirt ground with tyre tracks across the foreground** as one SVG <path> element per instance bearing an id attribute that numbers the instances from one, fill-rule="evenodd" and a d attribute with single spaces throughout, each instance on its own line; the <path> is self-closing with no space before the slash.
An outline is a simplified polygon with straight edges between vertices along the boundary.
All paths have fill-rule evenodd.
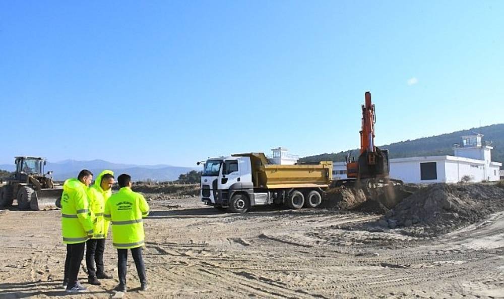
<path id="1" fill-rule="evenodd" d="M 154 198 L 163 198 L 155 196 Z M 504 199 L 503 199 L 504 200 Z M 504 212 L 440 236 L 359 229 L 380 215 L 257 208 L 244 215 L 198 198 L 151 200 L 139 291 L 129 258 L 125 298 L 497 298 L 504 297 Z M 59 298 L 65 246 L 60 212 L 0 211 L 0 298 Z M 365 225 L 361 225 L 365 226 Z M 115 279 L 77 298 L 110 298 Z M 87 282 L 83 270 L 82 282 Z"/>

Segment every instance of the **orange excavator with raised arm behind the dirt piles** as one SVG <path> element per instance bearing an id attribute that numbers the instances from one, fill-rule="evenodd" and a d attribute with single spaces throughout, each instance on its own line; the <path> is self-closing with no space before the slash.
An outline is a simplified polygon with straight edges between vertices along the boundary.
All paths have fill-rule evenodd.
<path id="1" fill-rule="evenodd" d="M 387 178 L 389 176 L 389 151 L 374 146 L 374 123 L 376 114 L 371 103 L 371 93 L 364 94 L 362 105 L 362 130 L 360 131 L 360 155 L 357 160 L 347 156 L 347 180 L 338 185 L 346 185 L 355 180 Z"/>

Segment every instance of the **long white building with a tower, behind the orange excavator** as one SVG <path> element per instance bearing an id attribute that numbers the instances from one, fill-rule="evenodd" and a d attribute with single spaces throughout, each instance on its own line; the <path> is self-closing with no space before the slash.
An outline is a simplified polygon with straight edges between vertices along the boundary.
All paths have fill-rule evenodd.
<path id="1" fill-rule="evenodd" d="M 491 161 L 493 147 L 482 144 L 482 137 L 481 134 L 462 136 L 462 144 L 454 146 L 455 156 L 390 159 L 390 177 L 405 183 L 498 181 L 502 163 Z M 345 162 L 333 163 L 333 177 L 346 178 Z"/>

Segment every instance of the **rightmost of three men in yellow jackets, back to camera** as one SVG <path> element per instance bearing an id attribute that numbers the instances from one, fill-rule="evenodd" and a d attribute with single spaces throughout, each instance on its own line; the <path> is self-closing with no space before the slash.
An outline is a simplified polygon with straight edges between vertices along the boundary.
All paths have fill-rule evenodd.
<path id="1" fill-rule="evenodd" d="M 142 246 L 144 246 L 143 218 L 149 214 L 149 205 L 145 198 L 131 190 L 131 176 L 121 174 L 117 177 L 119 192 L 113 194 L 105 204 L 105 219 L 112 221 L 112 241 L 117 248 L 117 274 L 119 284 L 114 288 L 116 291 L 126 291 L 126 267 L 128 249 L 131 250 L 138 277 L 140 288 L 147 289 L 147 277 L 142 258 Z"/>

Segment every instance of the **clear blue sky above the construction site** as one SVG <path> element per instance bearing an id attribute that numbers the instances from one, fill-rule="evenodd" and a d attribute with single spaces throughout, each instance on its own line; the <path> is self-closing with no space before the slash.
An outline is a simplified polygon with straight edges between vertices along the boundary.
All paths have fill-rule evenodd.
<path id="1" fill-rule="evenodd" d="M 504 123 L 504 2 L 0 2 L 0 163 L 193 166 Z"/>

